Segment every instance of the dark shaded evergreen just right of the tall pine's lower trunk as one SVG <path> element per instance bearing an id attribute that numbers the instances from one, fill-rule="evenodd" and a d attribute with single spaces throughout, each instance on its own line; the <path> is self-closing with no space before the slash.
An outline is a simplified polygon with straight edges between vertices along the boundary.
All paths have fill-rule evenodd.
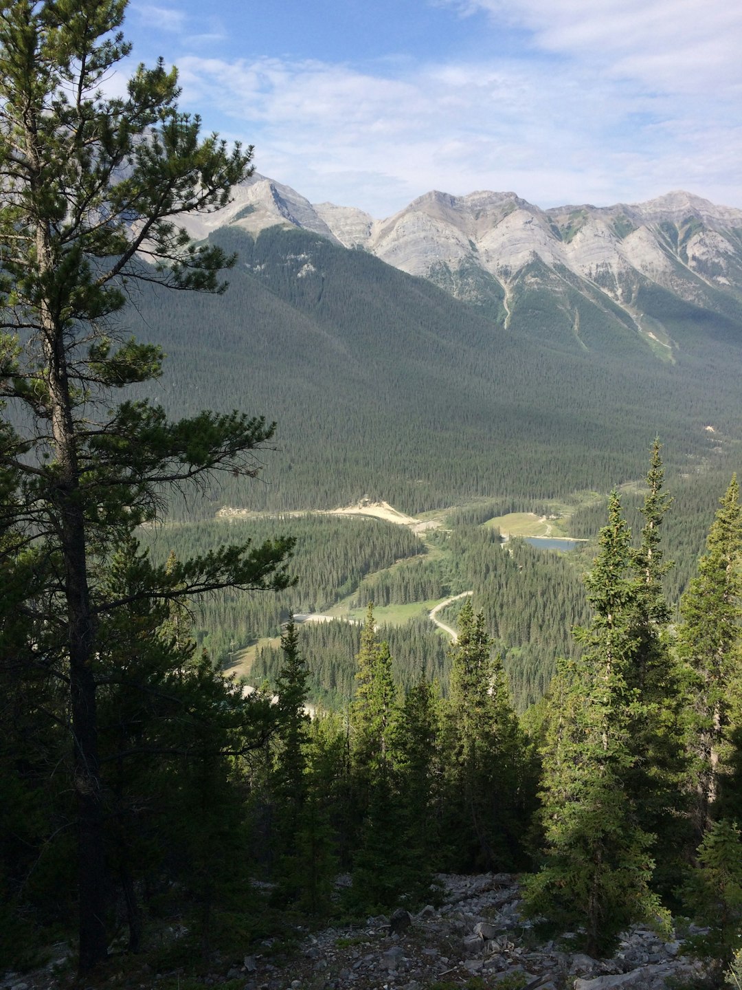
<path id="1" fill-rule="evenodd" d="M 165 567 L 174 573 L 177 561 Z M 196 649 L 187 616 L 173 616 L 178 603 L 140 595 L 147 586 L 161 587 L 158 574 L 131 540 L 106 569 L 105 593 L 128 605 L 101 618 L 95 667 L 107 865 L 132 949 L 139 892 L 164 873 L 196 908 L 192 931 L 206 952 L 215 910 L 247 880 L 245 857 L 233 862 L 248 842 L 236 768 L 266 748 L 277 710 L 225 678 Z"/>

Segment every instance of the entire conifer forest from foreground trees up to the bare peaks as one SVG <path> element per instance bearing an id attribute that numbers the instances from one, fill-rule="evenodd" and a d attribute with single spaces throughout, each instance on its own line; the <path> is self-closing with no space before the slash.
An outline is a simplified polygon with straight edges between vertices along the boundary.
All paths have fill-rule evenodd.
<path id="1" fill-rule="evenodd" d="M 0 5 L 0 972 L 185 980 L 493 871 L 539 938 L 683 918 L 739 976 L 739 342 L 589 359 L 314 235 L 192 241 L 252 148 L 164 62 L 106 95 L 126 8 Z"/>

